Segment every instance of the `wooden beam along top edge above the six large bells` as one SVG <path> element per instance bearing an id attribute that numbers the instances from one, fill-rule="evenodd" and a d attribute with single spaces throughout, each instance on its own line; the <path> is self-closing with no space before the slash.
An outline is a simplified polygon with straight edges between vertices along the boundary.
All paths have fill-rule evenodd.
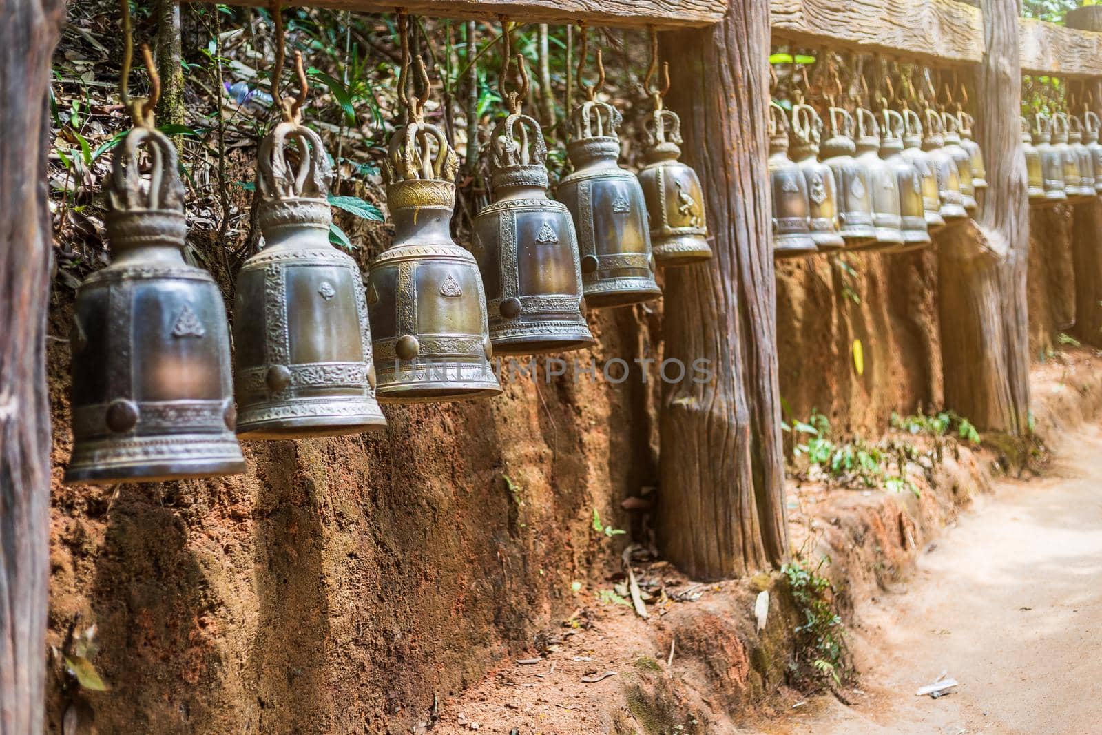
<path id="1" fill-rule="evenodd" d="M 199 2 L 213 0 L 197 0 Z M 497 22 L 499 15 L 523 23 L 554 23 L 659 29 L 716 23 L 728 0 L 287 0 L 283 6 L 335 8 L 364 13 L 410 13 Z M 268 0 L 231 0 L 233 6 L 267 7 Z"/>

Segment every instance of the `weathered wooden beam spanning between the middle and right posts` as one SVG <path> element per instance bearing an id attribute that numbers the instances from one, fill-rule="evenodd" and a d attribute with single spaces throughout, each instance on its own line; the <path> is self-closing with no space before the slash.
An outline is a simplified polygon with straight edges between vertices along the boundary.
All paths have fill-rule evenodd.
<path id="1" fill-rule="evenodd" d="M 983 60 L 983 18 L 958 0 L 771 0 L 774 42 L 909 56 L 940 65 Z"/>

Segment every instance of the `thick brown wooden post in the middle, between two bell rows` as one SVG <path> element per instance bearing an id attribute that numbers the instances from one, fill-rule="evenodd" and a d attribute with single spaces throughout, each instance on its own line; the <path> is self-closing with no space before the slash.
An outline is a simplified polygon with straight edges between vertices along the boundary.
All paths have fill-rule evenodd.
<path id="1" fill-rule="evenodd" d="M 766 166 L 769 6 L 733 0 L 723 21 L 663 34 L 667 105 L 704 186 L 715 257 L 666 271 L 666 358 L 710 361 L 709 382 L 667 383 L 658 531 L 696 579 L 777 564 L 788 552 Z"/>

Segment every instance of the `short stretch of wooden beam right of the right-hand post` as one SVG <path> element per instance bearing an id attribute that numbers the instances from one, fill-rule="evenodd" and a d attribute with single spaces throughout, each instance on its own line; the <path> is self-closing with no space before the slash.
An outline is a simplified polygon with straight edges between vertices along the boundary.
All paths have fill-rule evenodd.
<path id="1" fill-rule="evenodd" d="M 1102 75 L 1102 33 L 1022 18 L 1018 20 L 1018 46 L 1023 74 Z"/>

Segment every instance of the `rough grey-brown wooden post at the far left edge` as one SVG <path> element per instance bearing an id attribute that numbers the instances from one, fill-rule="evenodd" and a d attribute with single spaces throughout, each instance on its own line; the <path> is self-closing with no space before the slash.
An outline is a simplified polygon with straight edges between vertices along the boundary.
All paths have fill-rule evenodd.
<path id="1" fill-rule="evenodd" d="M 0 735 L 41 733 L 50 583 L 46 85 L 60 0 L 0 0 Z"/>

